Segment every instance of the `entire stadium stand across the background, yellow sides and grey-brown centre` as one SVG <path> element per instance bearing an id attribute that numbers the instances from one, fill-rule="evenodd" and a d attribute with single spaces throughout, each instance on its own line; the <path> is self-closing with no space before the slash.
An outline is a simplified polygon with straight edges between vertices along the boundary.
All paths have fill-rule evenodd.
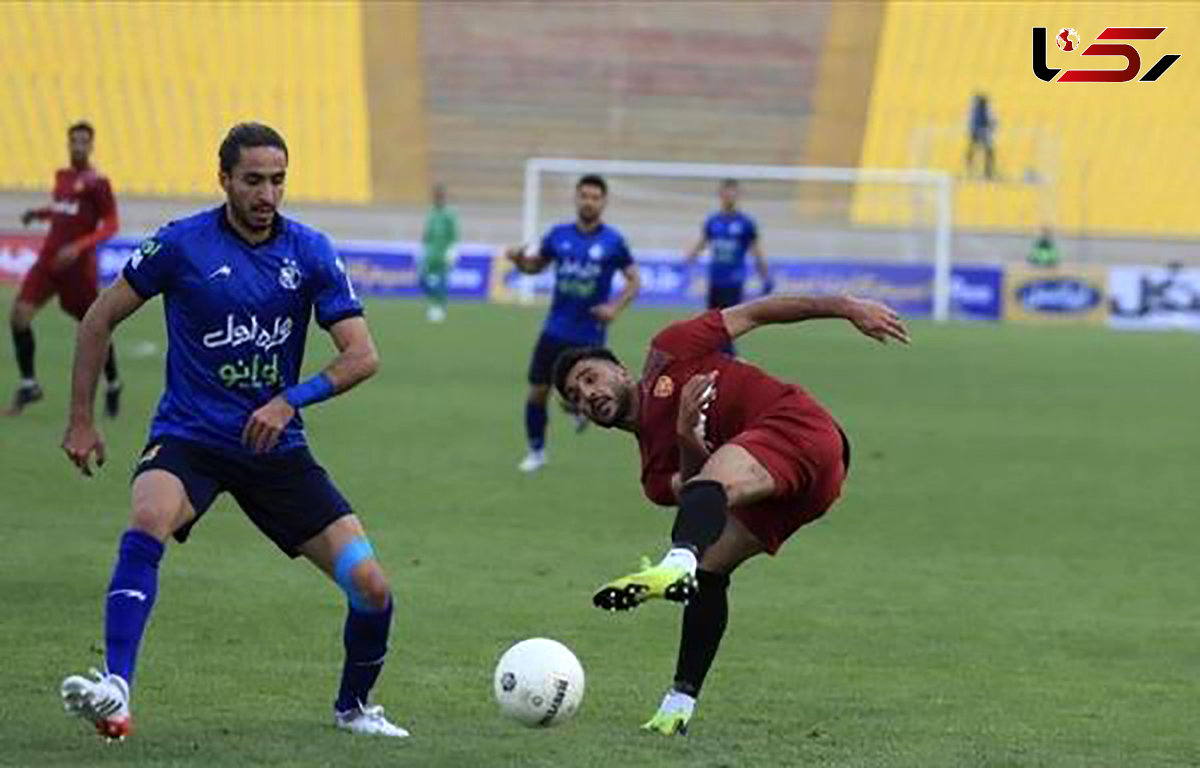
<path id="1" fill-rule="evenodd" d="M 1104 235 L 1117 235 L 1152 238 L 1147 258 L 1169 260 L 1178 256 L 1172 239 L 1200 233 L 1186 204 L 1200 175 L 1200 4 L 546 7 L 0 4 L 0 98 L 18 106 L 0 112 L 0 211 L 28 204 L 13 194 L 44 193 L 62 162 L 64 127 L 86 116 L 125 226 L 152 226 L 172 200 L 216 193 L 215 158 L 196 148 L 258 118 L 305 158 L 289 200 L 319 204 L 311 215 L 365 238 L 419 227 L 437 180 L 468 214 L 469 236 L 508 240 L 522 164 L 535 155 L 946 169 L 960 175 L 962 258 L 1024 258 L 1044 224 L 1085 259 L 1109 258 Z M 1139 44 L 1144 68 L 1183 54 L 1159 82 L 1033 77 L 1032 26 L 1074 26 L 1086 44 L 1134 17 L 1168 26 Z M 1082 66 L 1072 55 L 1049 47 L 1051 66 Z M 967 106 L 979 91 L 998 118 L 995 182 L 961 174 Z M 692 194 L 707 204 L 707 188 Z M 796 199 L 799 229 L 929 226 L 926 202 L 895 190 L 799 185 Z M 805 241 L 788 248 L 820 252 Z"/>

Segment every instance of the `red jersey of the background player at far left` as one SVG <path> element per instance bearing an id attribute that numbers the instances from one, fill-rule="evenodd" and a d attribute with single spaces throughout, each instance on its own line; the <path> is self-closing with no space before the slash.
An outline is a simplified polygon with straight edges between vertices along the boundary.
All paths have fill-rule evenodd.
<path id="1" fill-rule="evenodd" d="M 50 220 L 41 259 L 53 259 L 59 248 L 83 241 L 82 259 L 89 259 L 101 240 L 116 233 L 116 200 L 108 178 L 94 168 L 60 168 L 54 174 L 53 202 L 36 211 Z M 103 222 L 103 228 L 97 227 Z"/>

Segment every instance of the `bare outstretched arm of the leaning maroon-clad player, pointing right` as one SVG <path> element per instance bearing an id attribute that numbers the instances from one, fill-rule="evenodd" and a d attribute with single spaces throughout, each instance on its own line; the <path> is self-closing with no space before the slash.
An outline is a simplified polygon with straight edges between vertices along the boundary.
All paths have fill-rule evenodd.
<path id="1" fill-rule="evenodd" d="M 766 296 L 722 310 L 721 317 L 730 338 L 744 336 L 761 325 L 842 318 L 881 343 L 889 338 L 908 343 L 908 329 L 892 307 L 854 296 Z"/>

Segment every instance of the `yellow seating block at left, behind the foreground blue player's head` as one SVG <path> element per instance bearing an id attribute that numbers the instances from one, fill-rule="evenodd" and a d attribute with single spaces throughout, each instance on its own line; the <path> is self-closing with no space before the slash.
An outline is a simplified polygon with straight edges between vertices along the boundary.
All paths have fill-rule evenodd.
<path id="1" fill-rule="evenodd" d="M 86 116 L 119 192 L 208 196 L 215 158 L 192 148 L 216 148 L 232 122 L 260 119 L 306 158 L 293 199 L 370 199 L 358 2 L 174 2 L 172 24 L 160 11 L 0 4 L 0 102 L 20 106 L 0 116 L 0 186 L 44 188 L 65 127 Z"/>

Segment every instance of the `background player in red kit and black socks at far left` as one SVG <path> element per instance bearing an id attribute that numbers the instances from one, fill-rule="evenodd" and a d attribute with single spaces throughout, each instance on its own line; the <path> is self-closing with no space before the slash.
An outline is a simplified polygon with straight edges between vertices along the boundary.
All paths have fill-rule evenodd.
<path id="1" fill-rule="evenodd" d="M 98 294 L 96 246 L 116 233 L 118 218 L 116 200 L 108 178 L 89 162 L 95 137 L 96 132 L 88 122 L 76 122 L 67 128 L 71 166 L 54 174 L 50 204 L 28 210 L 20 217 L 26 227 L 34 221 L 49 220 L 50 230 L 42 242 L 37 262 L 20 283 L 10 314 L 12 343 L 20 370 L 20 386 L 8 409 L 10 415 L 42 398 L 42 388 L 34 376 L 34 316 L 58 294 L 62 310 L 82 320 Z M 116 377 L 112 347 L 108 349 L 104 378 L 108 382 L 104 413 L 115 416 L 120 409 L 121 383 Z"/>

